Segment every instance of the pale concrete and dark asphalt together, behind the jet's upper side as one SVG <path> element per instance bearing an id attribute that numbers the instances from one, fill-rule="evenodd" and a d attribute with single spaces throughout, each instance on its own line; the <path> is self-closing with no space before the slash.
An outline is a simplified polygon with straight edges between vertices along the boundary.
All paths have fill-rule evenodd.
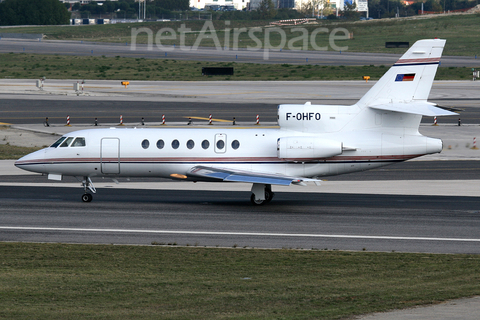
<path id="1" fill-rule="evenodd" d="M 118 81 L 87 81 L 79 96 L 73 91 L 75 80 L 47 80 L 44 90 L 34 80 L 0 80 L 0 122 L 39 124 L 46 117 L 51 124 L 124 122 L 138 124 L 161 122 L 186 123 L 188 117 L 237 121 L 253 124 L 277 121 L 279 104 L 352 105 L 362 97 L 373 81 L 278 81 L 278 82 L 163 82 L 132 81 L 125 89 Z M 480 81 L 438 81 L 430 101 L 454 108 L 460 115 L 439 117 L 441 124 L 480 123 Z M 195 123 L 202 123 L 194 119 Z M 204 123 L 204 122 L 203 122 Z M 424 117 L 423 123 L 433 123 Z"/>

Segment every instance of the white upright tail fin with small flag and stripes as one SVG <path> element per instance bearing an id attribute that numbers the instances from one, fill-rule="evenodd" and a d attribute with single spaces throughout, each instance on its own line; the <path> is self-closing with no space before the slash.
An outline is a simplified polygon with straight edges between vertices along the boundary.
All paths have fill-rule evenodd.
<path id="1" fill-rule="evenodd" d="M 358 101 L 357 106 L 425 103 L 446 40 L 419 40 Z M 400 110 L 393 110 L 400 111 Z M 452 113 L 453 114 L 453 113 Z"/>

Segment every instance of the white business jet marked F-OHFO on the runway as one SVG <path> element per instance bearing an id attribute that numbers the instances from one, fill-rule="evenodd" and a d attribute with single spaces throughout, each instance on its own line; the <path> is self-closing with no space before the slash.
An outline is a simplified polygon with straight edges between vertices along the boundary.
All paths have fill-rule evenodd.
<path id="1" fill-rule="evenodd" d="M 275 128 L 80 130 L 15 165 L 52 180 L 77 177 L 84 202 L 96 193 L 92 177 L 161 177 L 252 183 L 251 201 L 262 205 L 272 185 L 319 184 L 441 152 L 442 141 L 418 127 L 422 115 L 456 114 L 427 102 L 444 46 L 417 41 L 354 105 L 279 105 Z"/>

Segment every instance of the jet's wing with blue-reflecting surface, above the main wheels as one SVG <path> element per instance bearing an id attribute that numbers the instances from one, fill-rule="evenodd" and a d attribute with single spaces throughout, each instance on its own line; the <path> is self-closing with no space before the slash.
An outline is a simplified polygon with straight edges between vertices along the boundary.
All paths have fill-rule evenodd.
<path id="1" fill-rule="evenodd" d="M 277 184 L 289 186 L 290 184 L 303 184 L 304 178 L 288 177 L 279 174 L 268 174 L 250 171 L 237 171 L 223 168 L 195 166 L 187 173 L 189 178 L 199 178 L 206 181 L 232 181 L 263 184 Z"/>

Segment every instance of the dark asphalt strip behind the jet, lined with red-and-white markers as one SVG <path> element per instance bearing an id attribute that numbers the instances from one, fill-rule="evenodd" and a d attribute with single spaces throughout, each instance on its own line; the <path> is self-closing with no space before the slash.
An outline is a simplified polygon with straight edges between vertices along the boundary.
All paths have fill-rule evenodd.
<path id="1" fill-rule="evenodd" d="M 1 97 L 1 95 L 0 95 Z M 331 101 L 328 101 L 331 102 Z M 341 105 L 351 105 L 356 101 L 338 100 Z M 210 114 L 216 119 L 254 124 L 256 115 L 260 115 L 262 122 L 275 123 L 277 120 L 277 104 L 272 103 L 208 103 L 198 102 L 185 104 L 182 102 L 151 102 L 139 101 L 132 105 L 129 101 L 45 101 L 24 99 L 0 99 L 0 121 L 11 124 L 38 124 L 49 118 L 52 125 L 65 124 L 69 115 L 72 124 L 94 124 L 95 118 L 99 125 L 119 122 L 120 115 L 123 121 L 130 124 L 141 123 L 142 118 L 148 123 L 162 122 L 162 115 L 168 122 L 187 123 L 189 117 L 194 123 L 205 124 L 196 118 L 208 118 Z M 457 106 L 458 108 L 458 106 Z M 462 124 L 474 124 L 480 121 L 480 108 L 462 107 L 459 117 Z M 457 124 L 458 118 L 449 116 L 439 118 L 442 124 Z M 422 123 L 433 123 L 432 117 L 423 117 Z"/>

